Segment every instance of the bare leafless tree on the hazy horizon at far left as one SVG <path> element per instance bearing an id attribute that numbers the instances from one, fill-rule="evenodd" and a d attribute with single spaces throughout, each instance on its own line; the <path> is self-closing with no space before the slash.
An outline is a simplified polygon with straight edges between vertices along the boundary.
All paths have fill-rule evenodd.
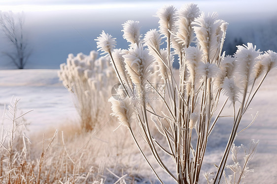
<path id="1" fill-rule="evenodd" d="M 18 69 L 23 69 L 28 58 L 30 57 L 30 50 L 27 41 L 24 38 L 23 32 L 24 14 L 15 14 L 11 11 L 0 11 L 0 26 L 4 36 L 12 44 L 14 49 L 3 52 Z"/>

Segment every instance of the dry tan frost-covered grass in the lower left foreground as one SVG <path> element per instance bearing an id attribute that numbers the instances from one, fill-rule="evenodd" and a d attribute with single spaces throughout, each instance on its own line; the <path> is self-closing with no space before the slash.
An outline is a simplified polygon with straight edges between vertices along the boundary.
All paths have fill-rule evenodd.
<path id="1" fill-rule="evenodd" d="M 28 124 L 18 112 L 18 100 L 11 101 L 4 113 L 9 126 L 0 129 L 1 184 L 126 184 L 153 180 L 144 170 L 146 166 L 137 162 L 140 155 L 125 130 L 113 133 L 113 120 L 89 133 L 77 125 L 61 125 L 59 131 L 36 132 L 29 138 Z"/>

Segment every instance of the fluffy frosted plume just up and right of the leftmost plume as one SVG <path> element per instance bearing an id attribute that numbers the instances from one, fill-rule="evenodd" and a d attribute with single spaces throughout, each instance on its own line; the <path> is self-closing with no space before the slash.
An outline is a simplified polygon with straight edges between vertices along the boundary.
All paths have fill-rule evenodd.
<path id="1" fill-rule="evenodd" d="M 140 42 L 140 33 L 139 33 L 139 22 L 128 20 L 123 26 L 123 38 L 132 44 L 138 44 Z"/>

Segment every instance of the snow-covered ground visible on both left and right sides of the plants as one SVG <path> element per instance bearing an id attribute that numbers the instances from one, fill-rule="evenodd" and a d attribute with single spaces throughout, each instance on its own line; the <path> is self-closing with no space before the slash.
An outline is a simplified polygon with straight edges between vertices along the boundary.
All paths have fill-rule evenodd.
<path id="1" fill-rule="evenodd" d="M 14 95 L 20 98 L 22 112 L 34 109 L 26 115 L 31 123 L 30 131 L 49 126 L 58 127 L 61 123 L 77 122 L 78 116 L 71 95 L 63 87 L 57 76 L 58 70 L 0 70 L 0 108 L 8 104 Z M 247 145 L 251 139 L 260 140 L 257 152 L 248 165 L 255 173 L 250 173 L 248 184 L 275 184 L 277 181 L 277 70 L 273 70 L 262 85 L 251 105 L 252 110 L 244 116 L 240 129 L 251 122 L 259 111 L 259 116 L 250 128 L 239 134 L 236 145 Z M 214 129 L 214 139 L 208 142 L 208 170 L 213 162 L 218 162 L 228 139 L 230 124 L 218 122 Z"/>

